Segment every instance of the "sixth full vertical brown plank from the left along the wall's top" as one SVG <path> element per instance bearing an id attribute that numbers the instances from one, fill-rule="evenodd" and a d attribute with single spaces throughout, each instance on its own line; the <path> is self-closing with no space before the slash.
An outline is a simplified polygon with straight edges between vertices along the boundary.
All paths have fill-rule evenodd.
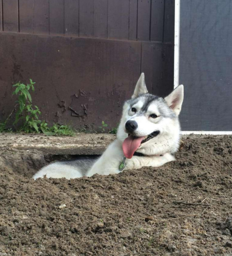
<path id="1" fill-rule="evenodd" d="M 79 35 L 94 36 L 94 0 L 79 0 Z"/>

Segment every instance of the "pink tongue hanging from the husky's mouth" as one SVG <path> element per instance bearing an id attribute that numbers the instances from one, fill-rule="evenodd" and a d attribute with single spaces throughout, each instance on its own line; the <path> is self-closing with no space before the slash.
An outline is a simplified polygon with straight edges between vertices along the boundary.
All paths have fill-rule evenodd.
<path id="1" fill-rule="evenodd" d="M 133 154 L 138 149 L 138 147 L 141 145 L 142 140 L 144 137 L 134 137 L 130 135 L 127 137 L 122 144 L 122 150 L 126 158 L 131 159 L 133 157 Z"/>

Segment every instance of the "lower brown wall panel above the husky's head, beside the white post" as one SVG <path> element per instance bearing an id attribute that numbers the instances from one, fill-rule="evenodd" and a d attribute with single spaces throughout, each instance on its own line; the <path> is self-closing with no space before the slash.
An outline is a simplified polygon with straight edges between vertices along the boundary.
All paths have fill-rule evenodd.
<path id="1" fill-rule="evenodd" d="M 167 96 L 174 86 L 174 46 L 163 43 L 142 43 L 141 64 L 148 91 L 158 96 Z"/>

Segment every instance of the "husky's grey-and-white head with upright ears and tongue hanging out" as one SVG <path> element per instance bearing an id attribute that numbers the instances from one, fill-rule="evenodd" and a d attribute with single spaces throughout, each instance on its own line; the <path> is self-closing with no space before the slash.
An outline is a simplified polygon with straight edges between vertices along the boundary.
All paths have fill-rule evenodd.
<path id="1" fill-rule="evenodd" d="M 178 116 L 183 102 L 183 85 L 167 97 L 148 93 L 141 74 L 130 100 L 123 106 L 117 138 L 123 142 L 125 157 L 135 151 L 148 155 L 175 152 L 180 138 Z"/>

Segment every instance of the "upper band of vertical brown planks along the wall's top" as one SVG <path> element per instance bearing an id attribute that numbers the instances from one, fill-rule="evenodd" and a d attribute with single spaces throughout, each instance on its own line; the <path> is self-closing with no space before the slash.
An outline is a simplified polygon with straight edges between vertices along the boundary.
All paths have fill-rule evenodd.
<path id="1" fill-rule="evenodd" d="M 0 31 L 173 42 L 174 0 L 0 0 Z"/>

